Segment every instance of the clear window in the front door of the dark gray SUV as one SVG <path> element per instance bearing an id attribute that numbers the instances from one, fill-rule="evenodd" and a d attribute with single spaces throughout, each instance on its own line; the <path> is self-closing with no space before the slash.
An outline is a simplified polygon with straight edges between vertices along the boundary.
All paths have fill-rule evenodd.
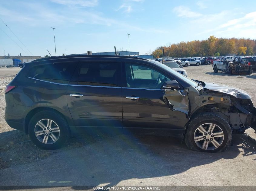
<path id="1" fill-rule="evenodd" d="M 126 83 L 130 88 L 161 89 L 165 81 L 170 81 L 165 75 L 148 66 L 125 64 Z"/>

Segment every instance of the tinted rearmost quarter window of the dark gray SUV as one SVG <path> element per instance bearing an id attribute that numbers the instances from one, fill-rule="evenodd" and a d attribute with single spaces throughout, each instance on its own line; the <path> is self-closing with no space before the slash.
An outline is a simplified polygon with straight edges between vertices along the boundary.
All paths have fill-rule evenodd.
<path id="1" fill-rule="evenodd" d="M 77 63 L 58 62 L 33 66 L 28 71 L 28 77 L 38 80 L 68 84 Z"/>

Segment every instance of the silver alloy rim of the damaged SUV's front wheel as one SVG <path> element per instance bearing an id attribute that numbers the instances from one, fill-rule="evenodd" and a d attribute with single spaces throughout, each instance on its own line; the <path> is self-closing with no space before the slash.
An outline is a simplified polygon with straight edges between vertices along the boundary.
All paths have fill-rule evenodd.
<path id="1" fill-rule="evenodd" d="M 204 123 L 194 132 L 194 142 L 196 145 L 207 151 L 217 149 L 224 140 L 222 129 L 214 123 Z"/>

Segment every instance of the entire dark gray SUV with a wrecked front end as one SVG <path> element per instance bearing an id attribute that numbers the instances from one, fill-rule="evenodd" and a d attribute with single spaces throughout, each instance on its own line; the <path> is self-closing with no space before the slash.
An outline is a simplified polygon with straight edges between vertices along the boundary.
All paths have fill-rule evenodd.
<path id="1" fill-rule="evenodd" d="M 119 128 L 169 132 L 184 136 L 190 149 L 218 152 L 228 148 L 232 133 L 256 129 L 256 109 L 245 91 L 135 57 L 27 62 L 6 87 L 5 100 L 8 125 L 44 149 L 60 148 L 81 130 Z"/>

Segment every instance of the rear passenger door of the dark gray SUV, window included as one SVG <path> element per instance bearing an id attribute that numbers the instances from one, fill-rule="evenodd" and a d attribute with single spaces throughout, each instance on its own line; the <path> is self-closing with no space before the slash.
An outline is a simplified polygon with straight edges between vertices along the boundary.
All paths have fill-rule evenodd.
<path id="1" fill-rule="evenodd" d="M 81 62 L 67 92 L 77 128 L 122 127 L 121 63 Z"/>

